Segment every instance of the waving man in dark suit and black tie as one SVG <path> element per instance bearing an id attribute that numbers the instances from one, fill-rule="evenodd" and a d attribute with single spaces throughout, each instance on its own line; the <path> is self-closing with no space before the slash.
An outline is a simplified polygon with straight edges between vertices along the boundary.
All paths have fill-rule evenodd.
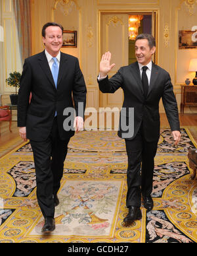
<path id="1" fill-rule="evenodd" d="M 107 76 L 115 66 L 110 64 L 111 53 L 102 55 L 100 61 L 98 77 L 100 91 L 114 93 L 121 87 L 124 92 L 118 135 L 125 139 L 128 156 L 126 205 L 129 213 L 124 219 L 127 225 L 142 218 L 141 194 L 147 210 L 152 210 L 154 206 L 151 193 L 154 156 L 160 137 L 160 98 L 163 100 L 175 144 L 179 143 L 181 138 L 173 85 L 169 73 L 152 62 L 155 51 L 156 41 L 150 34 L 137 36 L 135 41 L 137 62 L 121 67 L 111 79 Z M 131 108 L 134 110 L 133 119 L 129 115 Z M 134 127 L 133 133 L 125 132 L 125 127 L 131 127 L 131 123 Z"/>

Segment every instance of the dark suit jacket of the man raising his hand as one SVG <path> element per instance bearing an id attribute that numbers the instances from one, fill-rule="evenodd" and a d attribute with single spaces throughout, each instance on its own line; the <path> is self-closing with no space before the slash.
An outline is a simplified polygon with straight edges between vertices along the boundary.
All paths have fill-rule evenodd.
<path id="1" fill-rule="evenodd" d="M 118 88 L 122 88 L 124 92 L 123 108 L 126 108 L 126 120 L 129 121 L 128 109 L 134 108 L 134 134 L 133 137 L 127 139 L 132 140 L 137 135 L 142 125 L 144 137 L 146 141 L 158 141 L 160 137 L 160 113 L 159 102 L 162 98 L 165 113 L 171 127 L 171 131 L 179 131 L 179 113 L 177 109 L 177 101 L 173 93 L 173 85 L 169 73 L 152 63 L 152 72 L 150 77 L 150 86 L 148 96 L 144 98 L 139 64 L 137 62 L 121 67 L 118 73 L 111 79 L 98 80 L 101 92 L 113 93 Z M 123 112 L 120 112 L 120 118 Z M 130 120 L 133 121 L 133 120 Z M 118 136 L 123 137 L 121 125 Z M 123 137 L 124 138 L 124 137 Z"/>

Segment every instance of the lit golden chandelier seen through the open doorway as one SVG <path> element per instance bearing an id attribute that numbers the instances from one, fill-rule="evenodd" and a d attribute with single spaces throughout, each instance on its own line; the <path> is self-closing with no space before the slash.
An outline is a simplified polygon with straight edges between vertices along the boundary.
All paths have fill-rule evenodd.
<path id="1" fill-rule="evenodd" d="M 135 40 L 143 15 L 129 15 L 129 40 Z"/>

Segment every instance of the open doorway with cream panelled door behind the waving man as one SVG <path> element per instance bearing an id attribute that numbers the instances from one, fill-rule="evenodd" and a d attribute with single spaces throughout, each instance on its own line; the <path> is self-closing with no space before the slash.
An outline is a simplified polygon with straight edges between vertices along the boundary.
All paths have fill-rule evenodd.
<path id="1" fill-rule="evenodd" d="M 116 64 L 108 74 L 109 78 L 116 74 L 120 67 L 136 61 L 135 40 L 129 40 L 129 15 L 142 15 L 139 34 L 152 34 L 157 41 L 158 11 L 100 11 L 99 61 L 103 53 L 110 51 L 112 53 L 111 63 Z M 153 61 L 157 63 L 156 54 L 153 57 Z M 110 109 L 112 110 L 113 108 L 116 108 L 116 112 L 120 112 L 122 104 L 123 90 L 121 88 L 114 94 L 99 92 L 99 108 L 107 108 L 105 112 L 110 112 Z M 117 123 L 114 123 L 114 126 L 117 125 Z"/>

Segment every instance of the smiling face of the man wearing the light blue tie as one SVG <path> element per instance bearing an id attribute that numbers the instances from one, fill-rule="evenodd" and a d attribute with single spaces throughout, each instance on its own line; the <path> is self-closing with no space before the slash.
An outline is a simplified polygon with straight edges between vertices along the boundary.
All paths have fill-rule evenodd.
<path id="1" fill-rule="evenodd" d="M 62 42 L 61 28 L 58 26 L 48 26 L 45 30 L 45 38 L 43 38 L 47 52 L 56 57 L 62 47 Z"/>

